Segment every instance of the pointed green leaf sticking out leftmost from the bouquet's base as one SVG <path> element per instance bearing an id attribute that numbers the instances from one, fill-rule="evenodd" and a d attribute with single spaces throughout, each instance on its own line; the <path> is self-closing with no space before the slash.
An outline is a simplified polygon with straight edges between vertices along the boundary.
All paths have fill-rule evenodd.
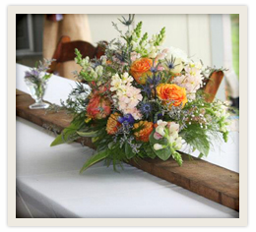
<path id="1" fill-rule="evenodd" d="M 62 145 L 65 143 L 70 143 L 78 139 L 77 130 L 79 126 L 77 124 L 71 123 L 71 125 L 65 128 L 59 136 L 51 143 L 50 146 Z"/>

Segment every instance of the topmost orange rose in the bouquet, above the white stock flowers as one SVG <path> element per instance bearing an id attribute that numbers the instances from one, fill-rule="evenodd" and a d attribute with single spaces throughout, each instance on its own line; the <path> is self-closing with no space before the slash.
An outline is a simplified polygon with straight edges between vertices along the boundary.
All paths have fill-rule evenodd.
<path id="1" fill-rule="evenodd" d="M 130 74 L 134 77 L 137 83 L 145 85 L 148 75 L 151 75 L 151 67 L 153 61 L 149 58 L 141 58 L 134 61 L 131 65 Z"/>

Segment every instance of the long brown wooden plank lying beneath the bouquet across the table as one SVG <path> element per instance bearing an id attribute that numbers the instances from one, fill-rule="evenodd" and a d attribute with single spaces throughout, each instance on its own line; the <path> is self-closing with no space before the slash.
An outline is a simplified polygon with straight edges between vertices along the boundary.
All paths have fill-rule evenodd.
<path id="1" fill-rule="evenodd" d="M 62 131 L 70 124 L 71 117 L 65 112 L 47 113 L 45 110 L 31 110 L 32 97 L 20 90 L 16 91 L 16 114 L 39 126 L 47 125 L 55 131 Z M 81 141 L 80 141 L 81 142 Z M 87 139 L 84 145 L 94 148 Z M 179 167 L 172 159 L 131 160 L 129 164 L 148 173 L 160 177 L 168 182 L 183 187 L 216 203 L 224 204 L 239 211 L 239 174 L 207 161 L 193 158 L 182 153 L 183 165 Z"/>

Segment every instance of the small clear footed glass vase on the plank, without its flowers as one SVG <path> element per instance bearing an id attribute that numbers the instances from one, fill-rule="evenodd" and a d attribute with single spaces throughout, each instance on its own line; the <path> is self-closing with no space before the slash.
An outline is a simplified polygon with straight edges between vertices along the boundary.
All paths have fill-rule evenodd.
<path id="1" fill-rule="evenodd" d="M 49 107 L 49 104 L 43 102 L 42 97 L 44 95 L 45 88 L 47 86 L 47 81 L 40 81 L 33 83 L 30 80 L 26 80 L 26 85 L 31 92 L 32 98 L 35 100 L 35 103 L 30 105 L 30 109 L 46 109 Z"/>

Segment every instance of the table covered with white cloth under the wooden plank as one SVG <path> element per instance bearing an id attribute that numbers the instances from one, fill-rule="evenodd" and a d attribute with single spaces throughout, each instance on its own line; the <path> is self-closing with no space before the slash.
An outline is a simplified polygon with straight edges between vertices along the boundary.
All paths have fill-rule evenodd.
<path id="1" fill-rule="evenodd" d="M 17 88 L 23 82 L 25 66 L 17 65 Z M 73 81 L 53 76 L 45 99 L 59 103 L 74 86 Z M 237 133 L 236 133 L 237 134 Z M 222 150 L 211 152 L 209 160 L 238 171 L 235 133 Z M 22 217 L 163 217 L 224 218 L 239 213 L 181 187 L 124 164 L 124 170 L 97 163 L 82 175 L 79 170 L 94 152 L 79 144 L 50 147 L 54 135 L 17 117 L 17 214 Z M 214 154 L 216 156 L 214 156 Z M 233 155 L 232 164 L 230 158 Z M 220 161 L 221 159 L 221 161 Z M 219 163 L 220 164 L 220 163 Z M 229 166 L 228 166 L 228 165 Z"/>

